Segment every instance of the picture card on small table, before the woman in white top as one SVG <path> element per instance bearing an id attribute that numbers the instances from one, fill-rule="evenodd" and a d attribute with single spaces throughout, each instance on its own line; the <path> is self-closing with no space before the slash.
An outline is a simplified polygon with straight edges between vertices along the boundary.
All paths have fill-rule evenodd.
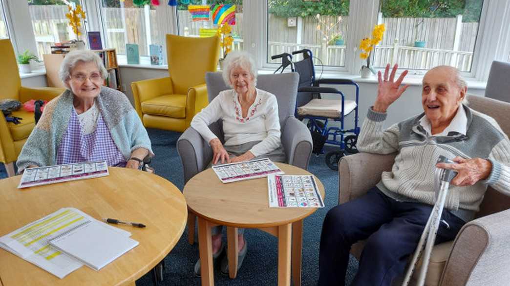
<path id="1" fill-rule="evenodd" d="M 215 165 L 212 168 L 222 183 L 285 174 L 284 171 L 268 158 Z"/>

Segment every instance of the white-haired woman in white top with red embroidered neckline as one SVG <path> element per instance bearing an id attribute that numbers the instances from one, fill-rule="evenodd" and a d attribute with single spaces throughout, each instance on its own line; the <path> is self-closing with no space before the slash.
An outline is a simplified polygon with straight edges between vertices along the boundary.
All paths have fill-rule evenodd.
<path id="1" fill-rule="evenodd" d="M 276 97 L 256 88 L 257 67 L 247 52 L 233 51 L 225 59 L 223 80 L 231 90 L 220 92 L 211 103 L 191 121 L 191 126 L 211 145 L 212 164 L 247 161 L 254 158 L 269 158 L 283 162 L 285 152 L 280 141 L 280 123 Z M 222 120 L 225 144 L 209 129 L 209 125 Z M 223 251 L 221 226 L 214 227 L 213 258 Z M 242 230 L 238 237 L 241 267 L 246 255 L 246 242 Z M 221 263 L 221 272 L 228 273 L 226 256 Z M 195 274 L 200 273 L 200 261 L 195 265 Z"/>

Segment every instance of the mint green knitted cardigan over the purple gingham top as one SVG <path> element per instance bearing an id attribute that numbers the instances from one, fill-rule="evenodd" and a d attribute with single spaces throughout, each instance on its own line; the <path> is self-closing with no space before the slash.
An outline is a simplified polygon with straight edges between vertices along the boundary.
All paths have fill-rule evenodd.
<path id="1" fill-rule="evenodd" d="M 57 163 L 57 150 L 74 108 L 73 98 L 73 93 L 66 90 L 46 104 L 41 119 L 18 156 L 18 172 L 32 164 L 48 166 Z M 115 145 L 126 161 L 138 148 L 145 148 L 154 156 L 147 130 L 123 93 L 102 87 L 96 103 Z"/>

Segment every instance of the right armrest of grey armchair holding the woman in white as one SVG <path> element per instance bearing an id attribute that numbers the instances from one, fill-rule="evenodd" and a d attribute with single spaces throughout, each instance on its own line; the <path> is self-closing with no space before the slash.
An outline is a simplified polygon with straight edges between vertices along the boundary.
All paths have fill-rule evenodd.
<path id="1" fill-rule="evenodd" d="M 302 169 L 308 168 L 312 155 L 312 135 L 310 130 L 295 117 L 288 117 L 282 130 L 282 145 L 287 162 Z"/>

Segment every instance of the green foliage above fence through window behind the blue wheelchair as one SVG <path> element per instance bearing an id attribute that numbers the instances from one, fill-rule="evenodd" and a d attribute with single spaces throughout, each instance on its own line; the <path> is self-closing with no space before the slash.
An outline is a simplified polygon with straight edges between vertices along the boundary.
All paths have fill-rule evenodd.
<path id="1" fill-rule="evenodd" d="M 278 17 L 346 16 L 349 15 L 349 0 L 269 0 L 268 12 Z"/>

